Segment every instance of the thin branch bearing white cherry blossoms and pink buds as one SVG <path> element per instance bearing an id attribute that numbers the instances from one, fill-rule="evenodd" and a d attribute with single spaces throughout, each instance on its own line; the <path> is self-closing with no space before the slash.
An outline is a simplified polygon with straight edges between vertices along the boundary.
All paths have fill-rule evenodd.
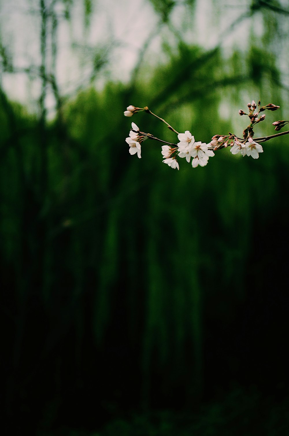
<path id="1" fill-rule="evenodd" d="M 188 163 L 192 163 L 192 167 L 196 168 L 198 165 L 200 167 L 205 167 L 208 164 L 208 160 L 210 157 L 215 156 L 214 151 L 220 150 L 222 148 L 230 147 L 230 152 L 232 154 L 241 153 L 243 157 L 252 156 L 253 159 L 259 158 L 259 153 L 263 153 L 262 145 L 259 142 L 265 142 L 269 139 L 275 138 L 276 136 L 284 135 L 289 133 L 277 133 L 271 136 L 264 136 L 261 138 L 256 138 L 257 141 L 253 140 L 254 131 L 253 127 L 255 124 L 260 121 L 264 121 L 265 115 L 259 115 L 260 112 L 265 111 L 266 109 L 269 111 L 275 111 L 279 109 L 280 106 L 273 105 L 270 103 L 266 106 L 261 106 L 261 102 L 258 102 L 258 110 L 257 104 L 252 101 L 248 105 L 249 113 L 245 113 L 243 110 L 239 110 L 240 115 L 247 115 L 250 119 L 248 127 L 245 128 L 243 132 L 243 138 L 239 138 L 236 135 L 229 133 L 229 135 L 215 135 L 212 137 L 210 143 L 202 143 L 201 141 L 195 142 L 195 138 L 191 132 L 188 130 L 185 133 L 178 133 L 173 127 L 171 127 L 164 119 L 155 115 L 151 112 L 148 107 L 139 108 L 133 105 L 127 107 L 127 110 L 124 111 L 125 116 L 132 116 L 136 112 L 145 111 L 163 123 L 165 123 L 170 130 L 175 132 L 178 135 L 179 142 L 177 144 L 168 143 L 166 141 L 160 140 L 150 133 L 140 132 L 140 129 L 135 123 L 131 123 L 131 131 L 129 133 L 128 138 L 126 138 L 126 142 L 129 145 L 129 153 L 130 154 L 138 154 L 138 157 L 141 158 L 141 143 L 146 139 L 156 140 L 161 143 L 165 143 L 161 147 L 161 154 L 163 156 L 163 163 L 167 164 L 169 167 L 179 170 L 179 164 L 177 157 L 184 158 Z M 275 121 L 272 123 L 275 126 L 275 130 L 280 130 L 286 124 L 289 124 L 289 120 L 281 120 Z M 192 159 L 192 161 L 191 161 Z"/>

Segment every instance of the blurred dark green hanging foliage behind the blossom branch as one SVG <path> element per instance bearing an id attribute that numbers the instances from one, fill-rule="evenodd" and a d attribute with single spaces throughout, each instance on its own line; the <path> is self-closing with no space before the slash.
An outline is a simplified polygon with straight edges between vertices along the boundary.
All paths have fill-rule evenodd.
<path id="1" fill-rule="evenodd" d="M 174 3 L 152 3 L 167 23 Z M 157 142 L 141 160 L 125 143 L 131 121 L 176 135 L 123 116 L 148 105 L 209 142 L 232 123 L 242 134 L 245 93 L 281 106 L 256 129 L 276 133 L 289 114 L 276 66 L 287 54 L 272 48 L 288 19 L 279 7 L 252 3 L 252 24 L 258 13 L 267 27 L 249 51 L 225 58 L 178 35 L 166 65 L 58 96 L 53 121 L 43 99 L 34 116 L 1 89 L 5 434 L 289 434 L 288 137 L 258 160 L 224 149 L 177 171 Z M 3 47 L 2 59 L 7 71 Z"/>

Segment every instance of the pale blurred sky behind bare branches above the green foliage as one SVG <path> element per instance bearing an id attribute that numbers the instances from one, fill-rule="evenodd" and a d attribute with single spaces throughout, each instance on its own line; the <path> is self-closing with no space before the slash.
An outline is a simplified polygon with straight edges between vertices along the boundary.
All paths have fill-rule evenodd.
<path id="1" fill-rule="evenodd" d="M 246 51 L 252 41 L 264 44 L 261 3 L 269 4 L 265 9 L 275 12 L 279 23 L 278 44 L 272 35 L 267 46 L 277 54 L 288 53 L 286 0 L 2 0 L 0 84 L 10 99 L 37 111 L 41 62 L 60 95 L 71 96 L 88 85 L 99 89 L 108 80 L 129 82 L 140 55 L 146 65 L 169 61 L 164 44 L 171 51 L 179 41 L 207 49 L 220 44 L 224 56 Z M 283 83 L 289 85 L 288 58 L 280 56 L 279 63 Z M 52 89 L 46 90 L 45 104 L 48 116 L 54 116 Z"/>

